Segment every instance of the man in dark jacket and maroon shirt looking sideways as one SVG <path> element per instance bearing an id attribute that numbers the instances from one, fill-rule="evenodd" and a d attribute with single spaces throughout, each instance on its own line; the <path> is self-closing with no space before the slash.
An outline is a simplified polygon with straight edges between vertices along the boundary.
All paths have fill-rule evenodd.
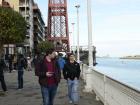
<path id="1" fill-rule="evenodd" d="M 61 78 L 59 66 L 55 59 L 55 52 L 53 49 L 49 49 L 46 51 L 46 56 L 43 60 L 38 59 L 35 65 L 35 73 L 39 77 L 43 105 L 53 105 Z"/>

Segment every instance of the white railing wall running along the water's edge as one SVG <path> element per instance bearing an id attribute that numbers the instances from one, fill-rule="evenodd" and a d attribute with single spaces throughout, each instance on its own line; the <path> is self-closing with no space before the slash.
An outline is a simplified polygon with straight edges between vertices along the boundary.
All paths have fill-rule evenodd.
<path id="1" fill-rule="evenodd" d="M 104 105 L 140 105 L 140 91 L 82 64 L 86 89 L 94 91 Z"/>

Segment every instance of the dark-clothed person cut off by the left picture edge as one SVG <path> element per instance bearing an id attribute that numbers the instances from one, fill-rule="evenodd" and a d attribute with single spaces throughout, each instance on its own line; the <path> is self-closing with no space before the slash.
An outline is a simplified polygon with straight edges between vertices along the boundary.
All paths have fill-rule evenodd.
<path id="1" fill-rule="evenodd" d="M 0 59 L 0 82 L 1 82 L 1 86 L 4 92 L 7 91 L 7 87 L 4 80 L 4 71 L 3 71 L 5 67 L 6 67 L 6 64 L 4 62 L 4 59 Z"/>

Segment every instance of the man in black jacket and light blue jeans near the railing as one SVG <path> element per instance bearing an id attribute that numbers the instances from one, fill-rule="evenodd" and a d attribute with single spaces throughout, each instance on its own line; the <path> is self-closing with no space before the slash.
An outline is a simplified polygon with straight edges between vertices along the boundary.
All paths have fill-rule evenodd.
<path id="1" fill-rule="evenodd" d="M 69 55 L 69 60 L 65 64 L 63 69 L 64 78 L 68 83 L 68 96 L 69 103 L 74 103 L 78 105 L 78 86 L 79 86 L 79 77 L 80 77 L 80 65 L 75 61 L 74 54 Z"/>

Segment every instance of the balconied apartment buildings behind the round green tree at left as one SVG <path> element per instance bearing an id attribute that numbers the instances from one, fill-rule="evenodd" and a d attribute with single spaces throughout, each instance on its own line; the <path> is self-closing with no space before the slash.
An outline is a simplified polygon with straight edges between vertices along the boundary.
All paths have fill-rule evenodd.
<path id="1" fill-rule="evenodd" d="M 44 21 L 41 16 L 41 12 L 34 3 L 34 0 L 5 0 L 10 4 L 10 6 L 17 12 L 19 12 L 27 21 L 27 33 L 26 39 L 23 43 L 16 45 L 18 53 L 30 56 L 34 49 L 36 49 L 37 44 L 44 39 Z M 35 22 L 35 23 L 34 23 Z M 40 30 L 42 31 L 40 31 Z M 5 45 L 5 47 L 8 47 Z M 12 46 L 15 47 L 15 46 Z M 9 49 L 10 50 L 10 49 Z M 11 53 L 12 52 L 12 53 Z M 7 51 L 5 48 L 5 53 L 13 54 L 15 49 L 12 51 Z"/>

